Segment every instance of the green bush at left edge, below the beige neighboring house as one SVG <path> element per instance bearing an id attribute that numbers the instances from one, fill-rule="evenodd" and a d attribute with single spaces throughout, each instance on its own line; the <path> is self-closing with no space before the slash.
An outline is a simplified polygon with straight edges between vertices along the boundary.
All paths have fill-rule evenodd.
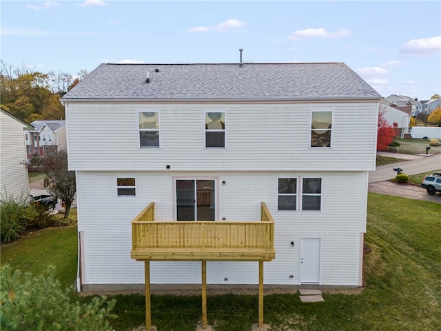
<path id="1" fill-rule="evenodd" d="M 0 238 L 3 241 L 14 241 L 28 227 L 28 221 L 37 216 L 34 206 L 28 206 L 28 199 L 14 197 L 12 194 L 1 196 L 0 199 Z"/>

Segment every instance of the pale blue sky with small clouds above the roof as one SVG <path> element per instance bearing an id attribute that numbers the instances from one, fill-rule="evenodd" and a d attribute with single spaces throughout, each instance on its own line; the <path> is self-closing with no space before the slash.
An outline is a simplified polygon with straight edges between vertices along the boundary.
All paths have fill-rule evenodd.
<path id="1" fill-rule="evenodd" d="M 441 94 L 441 1 L 5 1 L 6 66 L 344 62 L 383 97 Z"/>

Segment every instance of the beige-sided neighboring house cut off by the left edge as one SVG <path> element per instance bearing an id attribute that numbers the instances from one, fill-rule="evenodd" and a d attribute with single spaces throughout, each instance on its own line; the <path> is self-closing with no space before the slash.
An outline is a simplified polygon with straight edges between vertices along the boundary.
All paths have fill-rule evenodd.
<path id="1" fill-rule="evenodd" d="M 1 198 L 28 199 L 28 169 L 23 130 L 30 124 L 0 108 L 0 193 Z"/>

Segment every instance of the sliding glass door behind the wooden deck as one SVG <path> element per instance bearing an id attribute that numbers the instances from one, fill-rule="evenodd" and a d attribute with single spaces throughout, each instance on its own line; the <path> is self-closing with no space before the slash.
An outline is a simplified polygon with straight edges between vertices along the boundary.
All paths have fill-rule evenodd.
<path id="1" fill-rule="evenodd" d="M 176 219 L 214 221 L 215 218 L 214 179 L 176 179 Z"/>

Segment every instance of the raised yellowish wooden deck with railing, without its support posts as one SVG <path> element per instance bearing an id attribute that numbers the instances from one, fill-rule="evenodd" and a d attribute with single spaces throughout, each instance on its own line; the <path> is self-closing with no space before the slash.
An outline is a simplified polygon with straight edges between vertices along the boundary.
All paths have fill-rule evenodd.
<path id="1" fill-rule="evenodd" d="M 154 221 L 150 203 L 132 221 L 137 261 L 271 261 L 274 220 L 261 203 L 260 221 Z"/>

